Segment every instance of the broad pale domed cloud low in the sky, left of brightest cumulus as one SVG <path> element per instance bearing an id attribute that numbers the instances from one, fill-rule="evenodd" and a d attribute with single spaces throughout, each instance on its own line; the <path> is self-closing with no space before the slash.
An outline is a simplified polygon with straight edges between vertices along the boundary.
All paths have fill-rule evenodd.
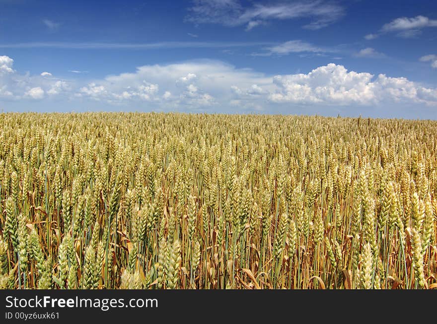
<path id="1" fill-rule="evenodd" d="M 242 100 L 253 88 L 271 87 L 271 77 L 251 69 L 236 69 L 219 61 L 200 60 L 170 65 L 140 66 L 134 73 L 111 75 L 80 88 L 77 96 L 119 104 L 147 102 L 152 107 L 209 109 L 235 96 L 229 84 L 241 87 Z"/>

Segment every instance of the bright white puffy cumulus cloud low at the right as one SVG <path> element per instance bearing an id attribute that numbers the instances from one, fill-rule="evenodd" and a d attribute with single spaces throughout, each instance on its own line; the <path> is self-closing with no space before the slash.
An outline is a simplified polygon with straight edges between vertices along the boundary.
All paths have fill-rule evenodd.
<path id="1" fill-rule="evenodd" d="M 307 74 L 278 75 L 273 82 L 280 89 L 269 99 L 278 103 L 377 105 L 387 102 L 437 104 L 437 90 L 422 87 L 404 77 L 387 77 L 348 71 L 343 65 L 328 64 Z"/>

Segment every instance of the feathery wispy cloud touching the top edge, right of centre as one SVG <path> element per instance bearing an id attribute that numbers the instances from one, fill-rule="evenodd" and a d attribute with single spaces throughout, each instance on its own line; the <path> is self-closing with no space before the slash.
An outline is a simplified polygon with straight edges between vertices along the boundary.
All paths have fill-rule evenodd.
<path id="1" fill-rule="evenodd" d="M 234 27 L 246 25 L 246 30 L 270 20 L 309 18 L 302 26 L 317 30 L 328 26 L 344 15 L 344 8 L 325 0 L 297 1 L 291 3 L 254 3 L 244 7 L 239 0 L 195 0 L 185 21 L 196 24 L 213 23 Z"/>

